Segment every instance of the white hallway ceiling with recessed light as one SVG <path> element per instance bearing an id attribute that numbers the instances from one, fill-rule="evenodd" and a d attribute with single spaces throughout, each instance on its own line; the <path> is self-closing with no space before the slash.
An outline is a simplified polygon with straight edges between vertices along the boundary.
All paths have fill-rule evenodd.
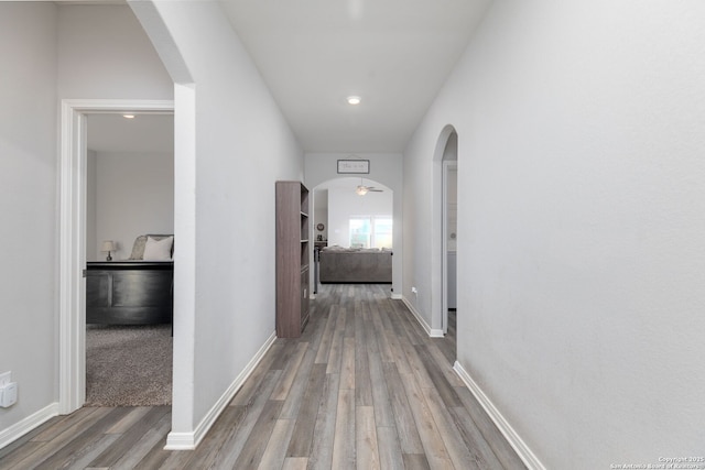
<path id="1" fill-rule="evenodd" d="M 491 0 L 221 1 L 306 152 L 401 152 Z"/>

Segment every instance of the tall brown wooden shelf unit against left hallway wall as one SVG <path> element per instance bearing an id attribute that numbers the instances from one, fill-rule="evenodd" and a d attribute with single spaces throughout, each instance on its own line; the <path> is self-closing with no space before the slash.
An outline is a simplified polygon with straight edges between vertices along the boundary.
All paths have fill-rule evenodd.
<path id="1" fill-rule="evenodd" d="M 299 338 L 308 321 L 308 189 L 276 182 L 276 336 Z"/>

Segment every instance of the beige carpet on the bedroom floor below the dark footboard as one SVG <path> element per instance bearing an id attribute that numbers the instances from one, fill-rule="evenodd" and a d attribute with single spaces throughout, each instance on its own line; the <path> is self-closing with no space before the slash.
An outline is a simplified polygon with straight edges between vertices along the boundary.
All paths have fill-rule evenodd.
<path id="1" fill-rule="evenodd" d="M 170 325 L 88 325 L 85 406 L 159 406 L 171 401 Z"/>

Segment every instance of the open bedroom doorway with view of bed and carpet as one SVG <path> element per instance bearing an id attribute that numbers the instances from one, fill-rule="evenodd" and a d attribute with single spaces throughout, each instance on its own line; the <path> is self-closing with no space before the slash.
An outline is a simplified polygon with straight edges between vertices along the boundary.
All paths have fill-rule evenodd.
<path id="1" fill-rule="evenodd" d="M 174 114 L 86 113 L 86 131 L 84 406 L 169 405 L 173 341 L 164 321 L 173 271 L 123 267 L 147 270 L 129 261 L 143 258 L 138 240 L 145 234 L 174 233 Z M 127 282 L 153 288 L 128 289 Z"/>

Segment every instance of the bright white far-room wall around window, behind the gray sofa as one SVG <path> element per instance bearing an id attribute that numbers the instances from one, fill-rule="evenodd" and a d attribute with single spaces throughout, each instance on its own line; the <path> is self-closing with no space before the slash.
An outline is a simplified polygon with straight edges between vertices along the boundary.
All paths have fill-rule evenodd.
<path id="1" fill-rule="evenodd" d="M 359 184 L 359 178 L 350 179 L 350 186 L 345 189 L 328 189 L 328 245 L 350 245 L 351 216 L 392 216 L 394 198 L 391 190 L 359 196 L 355 193 Z M 369 181 L 365 184 L 381 188 Z"/>

